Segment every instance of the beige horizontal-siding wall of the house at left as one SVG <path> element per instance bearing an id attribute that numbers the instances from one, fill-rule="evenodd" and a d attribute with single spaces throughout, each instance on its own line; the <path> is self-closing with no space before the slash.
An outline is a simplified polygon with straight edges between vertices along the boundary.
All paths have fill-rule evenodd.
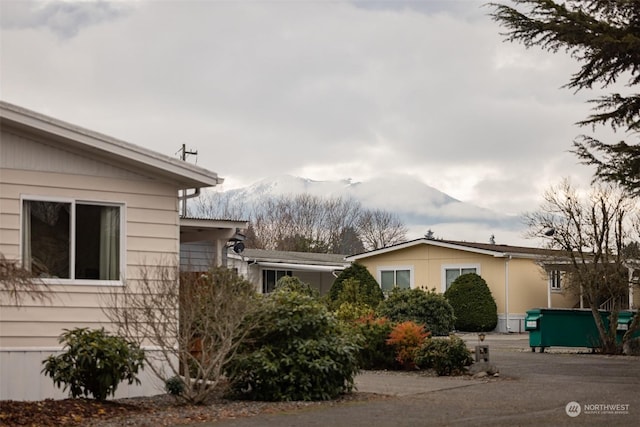
<path id="1" fill-rule="evenodd" d="M 125 280 L 139 278 L 142 268 L 178 260 L 178 202 L 173 184 L 36 139 L 4 129 L 0 136 L 0 252 L 5 257 L 21 258 L 21 197 L 39 196 L 121 204 Z M 57 338 L 65 328 L 112 329 L 101 309 L 104 294 L 112 289 L 90 281 L 48 282 L 50 301 L 27 297 L 21 307 L 0 294 L 0 399 L 60 397 L 55 390 L 36 385 L 42 382 L 36 379 L 41 376 L 41 362 L 60 349 Z M 26 378 L 33 379 L 33 388 Z M 19 383 L 29 384 L 28 392 Z M 145 385 L 140 390 L 150 389 Z"/>

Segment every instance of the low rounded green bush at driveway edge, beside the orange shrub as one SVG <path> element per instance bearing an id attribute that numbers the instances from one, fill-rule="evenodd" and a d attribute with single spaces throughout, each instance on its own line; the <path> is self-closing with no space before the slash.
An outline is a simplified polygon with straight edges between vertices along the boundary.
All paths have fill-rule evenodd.
<path id="1" fill-rule="evenodd" d="M 427 339 L 416 353 L 420 369 L 434 369 L 438 375 L 462 374 L 473 363 L 471 352 L 463 340 L 455 335 L 449 338 Z"/>

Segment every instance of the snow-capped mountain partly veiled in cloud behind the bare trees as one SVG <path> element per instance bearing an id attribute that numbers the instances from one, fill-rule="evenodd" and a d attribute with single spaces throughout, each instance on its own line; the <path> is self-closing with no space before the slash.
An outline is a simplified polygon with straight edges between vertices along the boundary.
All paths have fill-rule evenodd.
<path id="1" fill-rule="evenodd" d="M 224 193 L 245 206 L 264 197 L 301 193 L 353 198 L 365 208 L 396 213 L 407 226 L 409 239 L 423 237 L 431 230 L 436 238 L 447 240 L 488 243 L 491 236 L 495 236 L 496 243 L 534 245 L 524 239 L 520 217 L 462 202 L 408 175 L 392 174 L 363 182 L 314 181 L 279 175 Z"/>

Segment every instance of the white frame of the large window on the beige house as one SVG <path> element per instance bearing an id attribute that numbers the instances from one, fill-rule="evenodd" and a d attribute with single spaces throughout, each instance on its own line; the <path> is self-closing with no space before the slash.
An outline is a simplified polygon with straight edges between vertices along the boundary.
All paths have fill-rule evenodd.
<path id="1" fill-rule="evenodd" d="M 52 197 L 52 196 L 40 196 L 40 195 L 21 195 L 20 196 L 20 261 L 22 265 L 24 263 L 24 202 L 51 202 L 51 203 L 68 203 L 72 209 L 70 212 L 70 230 L 69 230 L 69 274 L 75 276 L 76 265 L 76 205 L 87 204 L 96 206 L 114 206 L 120 208 L 120 265 L 119 272 L 120 278 L 118 280 L 93 280 L 93 279 L 62 279 L 62 278 L 49 278 L 43 277 L 42 280 L 45 284 L 50 285 L 88 285 L 88 286 L 122 286 L 125 281 L 126 272 L 126 218 L 125 213 L 127 211 L 126 203 L 104 201 L 104 200 L 88 200 L 88 199 L 75 199 L 68 197 Z"/>

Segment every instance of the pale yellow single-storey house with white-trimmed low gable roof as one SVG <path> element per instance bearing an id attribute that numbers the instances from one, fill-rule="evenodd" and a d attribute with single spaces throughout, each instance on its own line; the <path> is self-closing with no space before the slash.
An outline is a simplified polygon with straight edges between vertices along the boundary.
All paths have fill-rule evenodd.
<path id="1" fill-rule="evenodd" d="M 389 291 L 435 289 L 443 293 L 461 274 L 476 273 L 487 282 L 498 306 L 498 332 L 524 332 L 527 310 L 572 308 L 579 298 L 564 293 L 562 275 L 541 262 L 558 251 L 496 244 L 417 239 L 351 255 Z"/>

